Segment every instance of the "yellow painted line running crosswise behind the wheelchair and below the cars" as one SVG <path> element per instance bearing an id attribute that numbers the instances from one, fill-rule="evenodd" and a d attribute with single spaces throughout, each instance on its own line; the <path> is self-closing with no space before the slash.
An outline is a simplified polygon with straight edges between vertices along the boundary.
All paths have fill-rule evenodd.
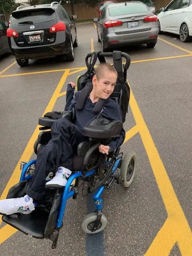
<path id="1" fill-rule="evenodd" d="M 168 60 L 174 58 L 182 58 L 182 57 L 191 57 L 192 54 L 185 54 L 185 55 L 177 55 L 177 56 L 169 56 L 169 57 L 160 57 L 160 58 L 153 58 L 153 59 L 144 59 L 144 60 L 133 60 L 132 63 L 140 63 L 140 62 L 148 62 L 148 61 L 156 61 L 156 60 Z M 125 62 L 123 62 L 125 64 Z M 70 70 L 86 70 L 87 67 L 80 67 L 80 68 L 70 68 Z M 63 72 L 67 70 L 66 68 L 63 69 L 55 69 L 55 70 L 45 70 L 45 71 L 37 71 L 37 72 L 27 72 L 27 73 L 20 73 L 20 74 L 9 74 L 9 75 L 0 75 L 0 78 L 3 77 L 12 77 L 12 76 L 24 76 L 24 75 L 33 75 L 33 74 L 43 74 L 43 73 L 51 73 L 51 72 Z"/>

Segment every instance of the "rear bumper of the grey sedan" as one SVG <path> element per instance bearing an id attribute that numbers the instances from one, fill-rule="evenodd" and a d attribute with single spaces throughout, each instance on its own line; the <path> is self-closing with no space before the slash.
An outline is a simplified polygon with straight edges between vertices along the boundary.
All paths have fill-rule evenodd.
<path id="1" fill-rule="evenodd" d="M 148 44 L 157 42 L 158 30 L 157 27 L 152 27 L 151 30 L 134 33 L 134 34 L 115 34 L 111 32 L 104 36 L 103 43 L 105 48 L 116 46 Z"/>

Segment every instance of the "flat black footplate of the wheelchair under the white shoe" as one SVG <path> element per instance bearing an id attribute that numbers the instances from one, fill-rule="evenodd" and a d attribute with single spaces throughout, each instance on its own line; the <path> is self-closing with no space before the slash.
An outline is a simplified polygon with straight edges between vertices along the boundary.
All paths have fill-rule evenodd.
<path id="1" fill-rule="evenodd" d="M 21 214 L 19 218 L 12 218 L 9 215 L 3 215 L 2 220 L 29 236 L 43 239 L 48 216 L 48 212 L 36 208 L 30 214 Z"/>

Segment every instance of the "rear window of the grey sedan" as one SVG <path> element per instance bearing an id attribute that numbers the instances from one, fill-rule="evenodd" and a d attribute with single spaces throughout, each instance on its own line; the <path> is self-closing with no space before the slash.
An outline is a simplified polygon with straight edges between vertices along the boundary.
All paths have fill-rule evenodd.
<path id="1" fill-rule="evenodd" d="M 134 13 L 140 12 L 148 12 L 149 9 L 144 4 L 121 4 L 119 6 L 110 7 L 109 8 L 109 15 L 110 16 L 120 16 L 120 15 L 129 15 Z"/>

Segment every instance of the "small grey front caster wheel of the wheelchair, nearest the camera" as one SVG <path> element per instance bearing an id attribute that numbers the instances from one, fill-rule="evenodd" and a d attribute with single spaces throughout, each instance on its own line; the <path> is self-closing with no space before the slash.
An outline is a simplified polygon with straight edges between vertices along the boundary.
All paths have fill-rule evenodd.
<path id="1" fill-rule="evenodd" d="M 101 220 L 100 220 L 97 230 L 92 232 L 92 228 L 94 226 L 94 222 L 96 221 L 96 219 L 97 219 L 96 212 L 88 214 L 82 220 L 81 229 L 87 234 L 96 234 L 96 233 L 99 233 L 102 230 L 104 230 L 104 228 L 107 226 L 107 219 L 104 216 L 104 214 L 102 214 L 102 217 L 101 217 Z"/>

